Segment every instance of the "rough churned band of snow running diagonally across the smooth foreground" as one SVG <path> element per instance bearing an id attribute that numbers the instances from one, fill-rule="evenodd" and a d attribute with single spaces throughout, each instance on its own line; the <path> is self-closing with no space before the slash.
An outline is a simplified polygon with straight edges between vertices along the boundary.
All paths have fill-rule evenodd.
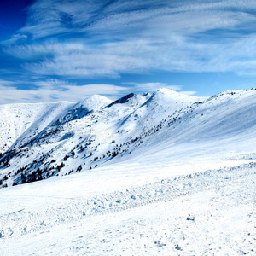
<path id="1" fill-rule="evenodd" d="M 256 163 L 251 162 L 243 166 L 197 172 L 189 175 L 162 179 L 160 182 L 115 191 L 108 195 L 98 195 L 88 199 L 63 199 L 40 212 L 26 212 L 20 209 L 0 216 L 0 237 L 7 240 L 12 237 L 47 230 L 59 224 L 104 215 L 109 212 L 119 212 L 133 207 L 141 207 L 162 201 L 200 193 L 209 189 L 219 189 L 224 186 L 236 186 L 236 183 L 252 183 L 251 189 L 255 193 Z M 248 186 L 248 185 L 247 185 Z M 241 194 L 241 197 L 243 195 Z"/>

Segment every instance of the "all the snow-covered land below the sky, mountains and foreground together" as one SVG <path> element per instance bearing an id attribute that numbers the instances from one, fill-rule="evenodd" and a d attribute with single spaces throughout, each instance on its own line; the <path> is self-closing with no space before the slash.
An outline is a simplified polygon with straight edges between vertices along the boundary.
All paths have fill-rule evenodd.
<path id="1" fill-rule="evenodd" d="M 254 89 L 2 106 L 1 255 L 254 255 L 255 113 Z"/>

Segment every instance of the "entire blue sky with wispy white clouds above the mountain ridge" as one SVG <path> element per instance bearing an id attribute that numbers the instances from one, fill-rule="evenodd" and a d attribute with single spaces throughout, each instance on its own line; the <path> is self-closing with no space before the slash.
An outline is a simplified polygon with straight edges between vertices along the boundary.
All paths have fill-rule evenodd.
<path id="1" fill-rule="evenodd" d="M 0 104 L 256 87 L 254 0 L 0 3 Z"/>

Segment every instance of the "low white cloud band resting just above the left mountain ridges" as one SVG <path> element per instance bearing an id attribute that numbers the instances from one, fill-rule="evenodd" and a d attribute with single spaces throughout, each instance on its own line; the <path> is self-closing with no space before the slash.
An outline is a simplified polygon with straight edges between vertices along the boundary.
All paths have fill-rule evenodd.
<path id="1" fill-rule="evenodd" d="M 166 83 L 124 83 L 122 86 L 113 84 L 84 84 L 77 85 L 66 80 L 47 79 L 32 82 L 30 90 L 21 90 L 18 85 L 21 81 L 11 82 L 0 80 L 0 104 L 30 103 L 30 102 L 79 102 L 87 96 L 102 95 L 109 99 L 134 92 L 154 92 L 162 87 L 180 90 L 184 94 L 193 95 L 195 91 L 183 91 L 181 85 Z M 24 82 L 24 81 L 23 81 Z"/>

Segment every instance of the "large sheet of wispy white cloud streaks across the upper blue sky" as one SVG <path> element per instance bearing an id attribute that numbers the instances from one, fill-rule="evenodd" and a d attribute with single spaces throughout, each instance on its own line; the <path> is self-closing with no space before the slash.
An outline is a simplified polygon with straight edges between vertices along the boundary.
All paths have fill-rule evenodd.
<path id="1" fill-rule="evenodd" d="M 2 44 L 27 77 L 42 80 L 155 72 L 255 75 L 255 12 L 251 0 L 38 0 L 27 9 L 26 26 Z"/>

